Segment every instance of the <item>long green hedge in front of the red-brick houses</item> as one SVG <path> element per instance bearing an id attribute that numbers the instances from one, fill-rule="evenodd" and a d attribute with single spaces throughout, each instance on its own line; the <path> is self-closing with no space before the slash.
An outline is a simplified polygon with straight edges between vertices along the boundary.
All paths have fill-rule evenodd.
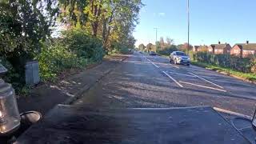
<path id="1" fill-rule="evenodd" d="M 190 52 L 190 58 L 194 61 L 222 66 L 244 73 L 255 73 L 256 71 L 256 58 L 240 58 L 230 54 L 210 54 L 206 52 Z"/>

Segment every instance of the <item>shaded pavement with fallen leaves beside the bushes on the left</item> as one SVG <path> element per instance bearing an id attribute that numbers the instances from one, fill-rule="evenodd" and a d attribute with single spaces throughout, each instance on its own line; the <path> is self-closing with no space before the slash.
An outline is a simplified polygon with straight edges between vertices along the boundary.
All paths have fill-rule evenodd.
<path id="1" fill-rule="evenodd" d="M 77 74 L 34 88 L 29 96 L 18 98 L 19 112 L 37 110 L 44 115 L 59 103 L 69 104 L 114 70 L 125 58 L 126 55 L 113 55 L 99 65 L 86 67 Z"/>

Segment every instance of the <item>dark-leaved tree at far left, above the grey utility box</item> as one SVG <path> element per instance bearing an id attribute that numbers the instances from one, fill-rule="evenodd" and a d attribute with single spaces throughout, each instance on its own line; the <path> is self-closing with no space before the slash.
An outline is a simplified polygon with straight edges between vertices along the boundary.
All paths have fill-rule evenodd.
<path id="1" fill-rule="evenodd" d="M 40 52 L 57 16 L 55 0 L 0 1 L 0 56 L 18 74 L 16 82 L 25 81 L 24 64 Z"/>

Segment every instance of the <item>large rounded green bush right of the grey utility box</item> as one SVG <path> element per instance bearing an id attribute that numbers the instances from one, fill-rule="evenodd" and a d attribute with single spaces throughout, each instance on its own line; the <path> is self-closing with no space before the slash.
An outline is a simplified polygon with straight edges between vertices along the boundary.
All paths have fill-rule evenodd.
<path id="1" fill-rule="evenodd" d="M 45 42 L 37 56 L 42 81 L 56 78 L 65 69 L 82 68 L 104 56 L 102 42 L 84 30 L 67 30 L 63 38 Z"/>

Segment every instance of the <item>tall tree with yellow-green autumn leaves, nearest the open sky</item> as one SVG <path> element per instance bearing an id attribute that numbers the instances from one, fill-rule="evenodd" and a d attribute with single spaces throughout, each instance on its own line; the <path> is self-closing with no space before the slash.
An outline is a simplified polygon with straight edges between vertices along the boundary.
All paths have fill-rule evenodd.
<path id="1" fill-rule="evenodd" d="M 141 0 L 90 0 L 85 9 L 86 27 L 92 35 L 102 38 L 103 46 L 110 48 L 110 42 L 125 42 L 130 37 L 141 7 Z"/>

